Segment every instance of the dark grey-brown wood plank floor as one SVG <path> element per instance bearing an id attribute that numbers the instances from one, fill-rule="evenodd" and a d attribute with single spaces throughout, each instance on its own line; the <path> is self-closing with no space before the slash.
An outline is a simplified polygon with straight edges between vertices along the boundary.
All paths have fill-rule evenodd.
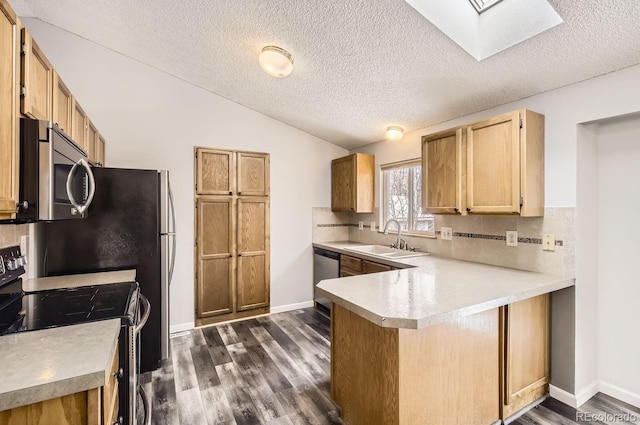
<path id="1" fill-rule="evenodd" d="M 151 423 L 342 424 L 330 397 L 329 329 L 308 308 L 173 336 L 171 359 L 141 377 Z M 640 409 L 603 394 L 579 411 L 549 398 L 512 423 L 640 425 Z"/>

